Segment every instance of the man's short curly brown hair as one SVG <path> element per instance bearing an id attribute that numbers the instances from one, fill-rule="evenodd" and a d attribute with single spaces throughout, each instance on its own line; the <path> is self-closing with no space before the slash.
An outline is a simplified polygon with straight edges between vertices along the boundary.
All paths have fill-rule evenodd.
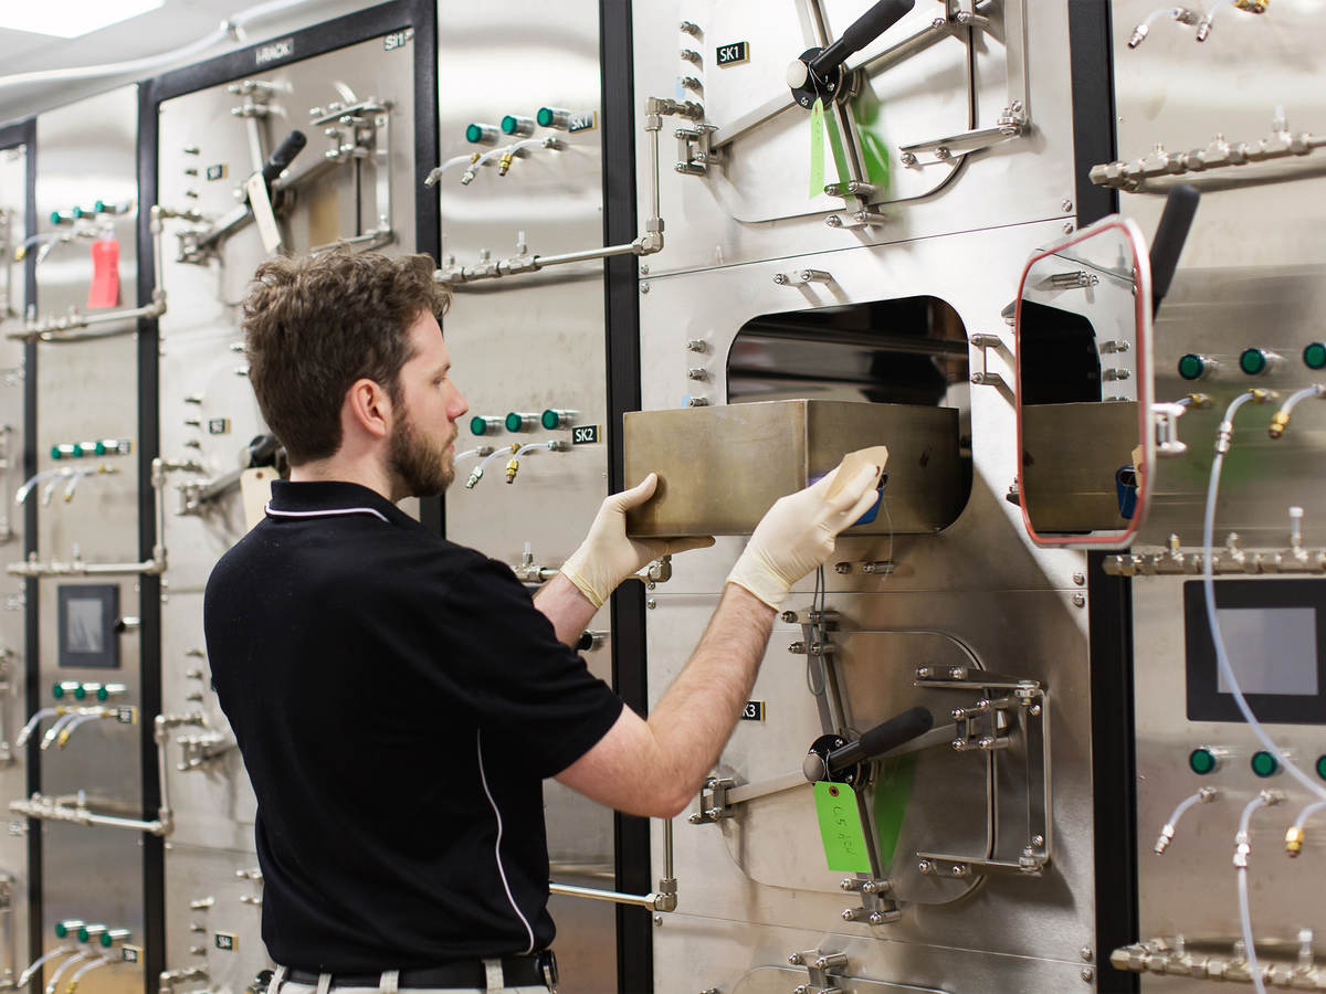
<path id="1" fill-rule="evenodd" d="M 345 249 L 257 268 L 244 298 L 249 382 L 292 465 L 341 448 L 341 404 L 355 380 L 374 380 L 399 403 L 410 327 L 426 311 L 440 323 L 451 304 L 435 269 L 426 254 Z"/>

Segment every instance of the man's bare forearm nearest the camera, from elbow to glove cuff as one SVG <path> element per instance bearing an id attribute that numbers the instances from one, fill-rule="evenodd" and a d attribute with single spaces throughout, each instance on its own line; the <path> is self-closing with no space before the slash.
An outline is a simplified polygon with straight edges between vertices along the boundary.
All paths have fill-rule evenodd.
<path id="1" fill-rule="evenodd" d="M 744 587 L 727 584 L 690 663 L 650 714 L 650 730 L 672 766 L 668 781 L 688 794 L 699 790 L 732 736 L 776 614 Z"/>

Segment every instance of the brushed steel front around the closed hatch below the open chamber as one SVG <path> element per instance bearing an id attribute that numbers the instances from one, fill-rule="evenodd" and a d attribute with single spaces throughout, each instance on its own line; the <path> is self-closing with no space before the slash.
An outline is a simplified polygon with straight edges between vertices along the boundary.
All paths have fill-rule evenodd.
<path id="1" fill-rule="evenodd" d="M 659 587 L 652 599 L 656 607 L 648 616 L 648 659 L 650 692 L 656 700 L 684 664 L 696 632 L 717 602 L 717 594 L 675 594 Z M 793 595 L 788 606 L 804 608 L 808 600 L 805 595 Z M 1001 973 L 993 987 L 967 983 L 957 990 L 1054 990 L 1052 978 L 1062 977 L 1055 961 L 1075 960 L 1078 950 L 1093 946 L 1094 941 L 1085 611 L 1073 604 L 1066 591 L 830 592 L 827 607 L 839 614 L 842 635 L 834 639 L 845 645 L 849 672 L 859 667 L 859 677 L 851 679 L 851 689 L 846 694 L 850 706 L 859 709 L 853 713 L 854 724 L 866 725 L 875 714 L 884 717 L 916 700 L 927 700 L 918 696 L 914 688 L 904 687 L 900 675 L 886 673 L 892 667 L 902 668 L 903 661 L 924 660 L 928 653 L 936 653 L 939 660 L 947 659 L 939 648 L 945 644 L 944 639 L 967 645 L 992 672 L 1044 681 L 1055 709 L 1049 733 L 1054 804 L 1049 840 L 1052 863 L 1042 877 L 988 877 L 971 896 L 951 904 L 908 904 L 902 920 L 892 925 L 846 925 L 841 918 L 842 909 L 855 907 L 859 900 L 851 901 L 837 891 L 841 873 L 829 875 L 821 869 L 814 877 L 815 885 L 808 885 L 812 869 L 817 864 L 823 867 L 819 863 L 822 848 L 814 828 L 806 827 L 804 819 L 796 823 L 801 828 L 788 827 L 786 815 L 792 814 L 793 801 L 770 807 L 773 816 L 768 823 L 754 823 L 760 818 L 754 804 L 744 815 L 747 823 L 740 826 L 740 831 L 761 850 L 758 854 L 736 850 L 725 838 L 732 831 L 728 826 L 692 826 L 683 815 L 674 828 L 679 909 L 686 916 L 703 920 L 703 925 L 680 934 L 671 928 L 674 917 L 666 917 L 655 933 L 656 962 L 676 964 L 686 956 L 700 956 L 696 952 L 700 945 L 696 932 L 705 928 L 719 932 L 728 928 L 725 922 L 748 922 L 732 928 L 744 929 L 743 941 L 749 942 L 752 949 L 765 941 L 756 940 L 756 936 L 776 934 L 778 928 L 854 936 L 867 950 L 862 956 L 869 966 L 854 969 L 857 975 L 898 977 L 945 987 L 943 969 L 924 974 L 898 971 L 907 956 L 924 954 L 920 952 L 924 946 L 943 946 L 944 953 L 953 956 L 957 954 L 955 950 L 965 949 L 1028 957 L 1018 967 L 1026 974 L 1018 970 Z M 800 767 L 806 746 L 821 730 L 818 709 L 806 688 L 805 657 L 786 651 L 788 643 L 800 637 L 800 627 L 776 623 L 751 694 L 753 700 L 766 702 L 766 720 L 737 722 L 716 767 L 719 775 L 733 777 L 739 782 L 758 782 Z M 863 641 L 857 643 L 858 639 Z M 857 645 L 863 647 L 859 656 Z M 873 675 L 870 669 L 882 672 Z M 955 698 L 961 696 L 953 694 Z M 967 701 L 955 700 L 953 705 L 957 704 Z M 961 826 L 971 823 L 971 791 L 965 790 L 969 781 L 949 783 L 943 779 L 949 771 L 943 762 L 927 767 L 930 762 L 931 758 L 926 757 L 918 763 L 914 798 L 924 798 L 924 802 L 918 803 L 915 811 L 907 811 L 908 822 L 915 818 L 916 823 L 904 824 L 898 860 L 903 857 L 904 846 L 919 847 L 922 840 L 924 844 L 940 843 L 945 832 L 952 832 L 947 842 L 953 846 L 973 842 L 961 838 L 967 831 Z M 923 775 L 927 779 L 924 783 Z M 1001 793 L 1009 789 L 1008 803 L 1000 806 L 996 826 L 1001 847 L 1013 847 L 1020 839 L 1017 832 L 1026 831 L 1026 814 L 1020 807 L 1016 786 L 1013 777 L 1001 775 Z M 790 798 L 793 793 L 786 791 L 784 797 Z M 984 797 L 980 801 L 984 804 Z M 955 819 L 952 828 L 948 819 Z M 654 844 L 654 859 L 659 861 L 662 831 L 658 828 Z M 780 846 L 782 884 L 752 880 L 735 859 L 735 852 L 741 859 L 749 854 L 772 867 Z M 900 881 L 908 888 L 919 884 L 906 876 Z M 830 893 L 830 889 L 834 892 Z M 785 962 L 790 952 L 793 949 L 784 949 L 762 962 Z M 937 952 L 932 949 L 930 954 Z M 747 953 L 733 954 L 729 965 L 743 962 L 748 962 Z M 754 965 L 761 960 L 749 962 Z M 693 970 L 672 975 L 662 966 L 656 975 L 659 990 L 680 990 L 682 982 L 693 983 L 696 978 Z M 1038 979 L 1029 981 L 1026 977 Z M 1077 982 L 1081 983 L 1081 979 Z"/>

